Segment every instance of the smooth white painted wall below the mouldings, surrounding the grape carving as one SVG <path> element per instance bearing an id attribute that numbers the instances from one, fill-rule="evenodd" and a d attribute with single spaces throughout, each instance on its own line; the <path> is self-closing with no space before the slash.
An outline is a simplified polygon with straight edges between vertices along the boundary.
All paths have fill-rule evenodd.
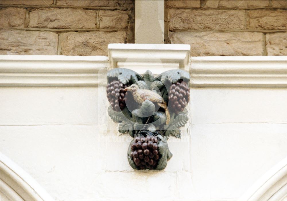
<path id="1" fill-rule="evenodd" d="M 286 87 L 193 85 L 190 123 L 182 140 L 170 138 L 166 169 L 135 171 L 132 138 L 117 136 L 101 83 L 0 87 L 1 152 L 57 201 L 247 200 L 287 157 Z"/>

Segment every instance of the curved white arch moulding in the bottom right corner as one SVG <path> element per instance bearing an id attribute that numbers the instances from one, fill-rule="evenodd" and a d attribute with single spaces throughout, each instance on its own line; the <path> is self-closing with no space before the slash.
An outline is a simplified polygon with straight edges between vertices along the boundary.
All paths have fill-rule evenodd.
<path id="1" fill-rule="evenodd" d="M 286 201 L 286 198 L 287 157 L 259 178 L 240 200 Z"/>

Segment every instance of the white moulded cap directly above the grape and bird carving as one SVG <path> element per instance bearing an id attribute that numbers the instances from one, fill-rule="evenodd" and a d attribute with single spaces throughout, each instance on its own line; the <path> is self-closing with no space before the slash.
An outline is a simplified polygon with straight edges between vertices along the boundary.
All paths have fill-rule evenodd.
<path id="1" fill-rule="evenodd" d="M 127 68 L 160 74 L 170 69 L 189 69 L 190 45 L 185 44 L 109 44 L 111 68 Z"/>

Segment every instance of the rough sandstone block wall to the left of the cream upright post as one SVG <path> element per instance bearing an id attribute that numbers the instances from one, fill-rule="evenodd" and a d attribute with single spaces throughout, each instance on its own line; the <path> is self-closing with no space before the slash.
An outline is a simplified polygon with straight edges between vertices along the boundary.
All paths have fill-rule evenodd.
<path id="1" fill-rule="evenodd" d="M 134 43 L 132 0 L 0 0 L 0 54 L 104 55 Z"/>

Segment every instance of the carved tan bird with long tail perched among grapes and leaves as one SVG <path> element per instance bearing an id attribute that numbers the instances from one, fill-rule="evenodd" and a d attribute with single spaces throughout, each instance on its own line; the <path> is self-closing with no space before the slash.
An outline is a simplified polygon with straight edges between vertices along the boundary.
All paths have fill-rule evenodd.
<path id="1" fill-rule="evenodd" d="M 164 108 L 166 112 L 166 125 L 169 124 L 170 113 L 166 106 L 166 102 L 159 94 L 148 89 L 140 89 L 139 86 L 136 84 L 132 84 L 124 90 L 131 91 L 131 93 L 133 94 L 133 98 L 139 104 L 142 104 L 145 100 L 150 100 L 151 102 L 157 103 L 160 107 Z"/>

